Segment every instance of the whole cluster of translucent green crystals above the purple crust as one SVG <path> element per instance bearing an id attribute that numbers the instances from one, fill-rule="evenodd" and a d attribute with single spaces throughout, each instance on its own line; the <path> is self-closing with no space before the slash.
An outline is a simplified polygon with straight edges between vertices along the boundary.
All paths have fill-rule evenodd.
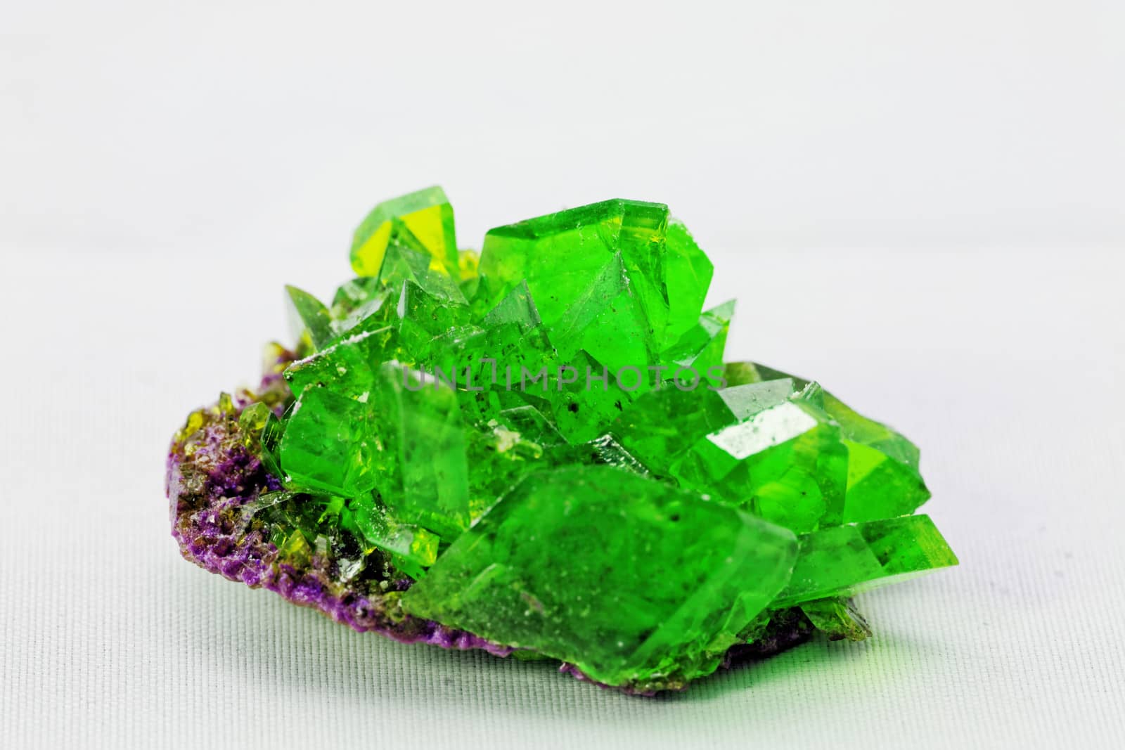
<path id="1" fill-rule="evenodd" d="M 497 227 L 477 256 L 431 188 L 377 206 L 351 264 L 327 304 L 288 289 L 295 400 L 242 427 L 287 498 L 410 581 L 407 614 L 651 689 L 785 608 L 862 638 L 848 597 L 956 563 L 911 515 L 914 444 L 724 363 L 734 305 L 704 309 L 711 262 L 666 206 Z"/>

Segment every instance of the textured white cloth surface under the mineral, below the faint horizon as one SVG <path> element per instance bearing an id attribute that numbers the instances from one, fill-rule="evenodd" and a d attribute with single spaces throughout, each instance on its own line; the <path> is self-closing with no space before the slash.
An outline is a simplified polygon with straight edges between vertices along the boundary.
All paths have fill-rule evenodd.
<path id="1" fill-rule="evenodd" d="M 871 641 L 631 698 L 208 575 L 169 536 L 169 435 L 253 380 L 281 281 L 323 293 L 342 253 L 256 277 L 249 256 L 21 254 L 0 281 L 19 344 L 0 747 L 1119 747 L 1120 255 L 712 256 L 712 299 L 742 300 L 731 356 L 816 377 L 922 448 L 962 566 L 862 595 Z"/>

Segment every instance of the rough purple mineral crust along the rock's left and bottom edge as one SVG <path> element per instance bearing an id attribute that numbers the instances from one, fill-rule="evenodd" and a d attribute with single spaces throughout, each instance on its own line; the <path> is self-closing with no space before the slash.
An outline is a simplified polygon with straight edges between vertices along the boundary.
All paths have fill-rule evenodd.
<path id="1" fill-rule="evenodd" d="M 270 540 L 269 528 L 252 517 L 263 493 L 281 489 L 261 459 L 248 449 L 237 426 L 237 412 L 262 400 L 280 414 L 291 400 L 278 374 L 294 354 L 274 350 L 276 362 L 256 392 L 242 391 L 224 414 L 222 407 L 200 409 L 169 449 L 165 491 L 170 503 L 172 536 L 181 554 L 205 570 L 251 588 L 267 588 L 289 602 L 312 607 L 349 627 L 372 631 L 403 643 L 430 643 L 444 649 L 483 649 L 506 657 L 515 649 L 440 623 L 412 617 L 402 611 L 398 595 L 410 579 L 342 576 L 339 561 L 318 548 L 307 560 L 287 560 Z M 799 611 L 777 613 L 767 638 L 730 649 L 723 667 L 764 658 L 804 642 L 813 629 Z M 590 680 L 576 667 L 562 663 L 560 671 Z M 600 683 L 595 683 L 601 685 Z M 602 687 L 610 687 L 601 685 Z M 683 689 L 669 681 L 657 686 L 619 686 L 626 693 L 654 695 L 657 689 Z"/>

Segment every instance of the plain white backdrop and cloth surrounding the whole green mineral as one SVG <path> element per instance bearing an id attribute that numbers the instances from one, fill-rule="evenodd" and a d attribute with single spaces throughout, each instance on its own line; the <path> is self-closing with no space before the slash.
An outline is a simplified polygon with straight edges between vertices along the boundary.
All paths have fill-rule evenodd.
<path id="1" fill-rule="evenodd" d="M 2 11 L 0 747 L 1125 743 L 1120 6 L 471 4 Z M 181 560 L 170 434 L 432 182 L 465 245 L 669 202 L 729 358 L 912 437 L 962 566 L 648 701 Z"/>

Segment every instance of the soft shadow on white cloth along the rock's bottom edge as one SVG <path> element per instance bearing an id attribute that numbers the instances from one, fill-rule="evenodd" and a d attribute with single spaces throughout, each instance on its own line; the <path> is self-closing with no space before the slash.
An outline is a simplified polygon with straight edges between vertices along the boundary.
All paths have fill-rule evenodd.
<path id="1" fill-rule="evenodd" d="M 183 658 L 207 665 L 209 674 L 253 678 L 286 693 L 361 704 L 389 702 L 465 711 L 503 707 L 529 716 L 558 714 L 560 702 L 572 719 L 598 720 L 622 708 L 638 715 L 647 707 L 721 699 L 778 681 L 822 679 L 842 662 L 868 661 L 878 643 L 829 642 L 822 636 L 778 654 L 753 659 L 694 683 L 682 693 L 655 698 L 598 688 L 558 672 L 558 662 L 500 658 L 479 650 L 457 651 L 399 643 L 375 633 L 357 633 L 306 607 L 266 590 L 225 581 L 178 562 L 179 585 L 195 589 L 197 617 L 180 629 Z M 198 576 L 198 577 L 197 577 Z M 194 579 L 194 580 L 192 580 Z"/>

